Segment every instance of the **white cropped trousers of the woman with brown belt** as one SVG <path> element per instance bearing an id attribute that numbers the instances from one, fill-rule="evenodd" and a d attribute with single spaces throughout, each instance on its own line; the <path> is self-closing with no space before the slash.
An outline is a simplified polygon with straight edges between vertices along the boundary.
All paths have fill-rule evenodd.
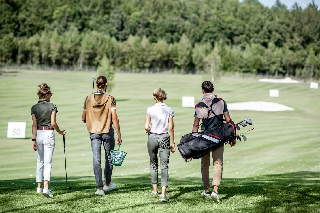
<path id="1" fill-rule="evenodd" d="M 52 156 L 55 145 L 53 130 L 37 130 L 36 182 L 51 181 Z M 43 177 L 43 179 L 42 179 Z"/>

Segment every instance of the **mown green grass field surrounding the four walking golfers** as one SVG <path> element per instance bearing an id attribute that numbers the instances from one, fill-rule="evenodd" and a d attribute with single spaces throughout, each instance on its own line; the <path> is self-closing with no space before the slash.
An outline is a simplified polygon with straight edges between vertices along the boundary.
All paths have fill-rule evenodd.
<path id="1" fill-rule="evenodd" d="M 221 204 L 202 197 L 200 160 L 185 163 L 178 150 L 170 156 L 168 203 L 151 196 L 147 134 L 144 118 L 154 104 L 152 92 L 161 87 L 175 113 L 175 138 L 192 129 L 194 108 L 183 108 L 182 96 L 201 98 L 203 78 L 196 75 L 115 75 L 111 92 L 128 153 L 114 166 L 117 189 L 95 196 L 92 152 L 81 121 L 84 99 L 92 91 L 93 72 L 19 71 L 0 75 L 0 212 L 319 212 L 320 211 L 320 90 L 308 84 L 272 84 L 257 79 L 221 78 L 215 93 L 227 104 L 243 101 L 276 102 L 294 111 L 230 111 L 231 118 L 253 120 L 248 141 L 225 146 Z M 62 136 L 56 133 L 52 182 L 55 195 L 36 194 L 36 153 L 31 148 L 30 110 L 38 101 L 37 85 L 52 87 L 57 123 L 65 129 L 68 183 L 65 186 Z M 279 89 L 278 98 L 269 89 Z M 6 137 L 9 121 L 26 121 L 27 139 Z M 249 128 L 242 128 L 243 132 Z M 102 161 L 104 164 L 104 161 Z M 211 165 L 211 177 L 213 166 Z M 160 180 L 159 170 L 159 180 Z M 159 190 L 160 187 L 159 187 Z"/>

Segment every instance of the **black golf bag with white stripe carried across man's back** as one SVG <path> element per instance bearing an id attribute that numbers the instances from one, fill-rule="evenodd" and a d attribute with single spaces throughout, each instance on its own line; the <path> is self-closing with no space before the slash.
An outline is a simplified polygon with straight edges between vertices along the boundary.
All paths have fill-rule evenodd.
<path id="1" fill-rule="evenodd" d="M 203 132 L 192 132 L 181 137 L 177 148 L 182 158 L 188 162 L 205 156 L 210 150 L 216 149 L 236 139 L 235 123 L 216 124 Z"/>

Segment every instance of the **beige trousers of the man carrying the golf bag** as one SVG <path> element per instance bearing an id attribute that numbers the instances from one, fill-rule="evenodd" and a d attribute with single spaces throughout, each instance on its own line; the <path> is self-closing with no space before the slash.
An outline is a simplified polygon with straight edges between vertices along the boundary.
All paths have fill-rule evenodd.
<path id="1" fill-rule="evenodd" d="M 213 158 L 213 180 L 212 186 L 220 186 L 222 178 L 222 165 L 223 165 L 223 147 L 213 149 L 208 154 L 201 158 L 201 176 L 204 188 L 209 188 L 209 166 L 210 166 L 210 153 L 212 152 Z"/>

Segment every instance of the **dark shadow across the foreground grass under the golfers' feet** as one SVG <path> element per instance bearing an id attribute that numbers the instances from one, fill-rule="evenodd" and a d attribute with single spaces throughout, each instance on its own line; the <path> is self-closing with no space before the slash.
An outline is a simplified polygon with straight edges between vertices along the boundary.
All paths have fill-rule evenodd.
<path id="1" fill-rule="evenodd" d="M 0 212 L 29 211 L 35 210 L 33 208 L 41 205 L 66 205 L 79 200 L 98 199 L 97 196 L 93 195 L 96 189 L 95 181 L 83 180 L 85 178 L 93 179 L 92 176 L 79 177 L 78 179 L 80 180 L 71 178 L 68 183 L 73 189 L 68 190 L 64 178 L 53 177 L 50 188 L 56 199 L 40 199 L 37 203 L 24 207 L 16 207 L 12 204 L 19 202 L 21 198 L 36 196 L 34 179 L 0 181 L 0 203 L 5 206 Z M 116 176 L 113 177 L 113 182 L 117 183 L 118 187 L 116 190 L 108 192 L 111 197 L 117 197 L 118 194 L 122 196 L 126 193 L 131 193 L 138 197 L 139 193 L 149 194 L 152 190 L 148 173 L 126 177 Z M 276 210 L 284 212 L 307 210 L 312 212 L 314 209 L 320 208 L 320 172 L 298 171 L 247 179 L 222 179 L 220 186 L 219 194 L 222 204 L 239 205 L 242 212 L 274 212 Z M 200 195 L 202 190 L 201 177 L 176 178 L 174 181 L 169 179 L 167 192 L 170 202 L 168 204 L 178 205 L 183 203 L 197 208 L 197 206 L 201 205 L 199 203 L 204 202 L 204 199 L 206 199 Z M 205 201 L 212 203 L 210 198 Z M 127 210 L 129 207 L 132 209 L 153 204 L 154 202 L 150 202 L 150 199 L 146 199 L 143 202 L 134 202 L 130 205 L 117 206 L 108 210 Z M 85 209 L 90 209 L 91 204 L 88 203 L 88 205 Z M 223 210 L 223 205 L 218 206 L 218 208 Z M 57 210 L 55 208 L 52 207 L 52 210 Z"/>

